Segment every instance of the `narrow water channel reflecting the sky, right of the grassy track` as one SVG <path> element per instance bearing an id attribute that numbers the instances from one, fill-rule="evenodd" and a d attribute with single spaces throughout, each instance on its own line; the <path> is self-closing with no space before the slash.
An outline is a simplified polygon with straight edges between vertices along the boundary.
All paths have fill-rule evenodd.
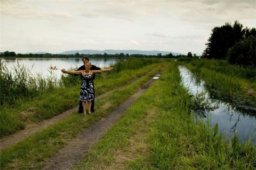
<path id="1" fill-rule="evenodd" d="M 232 137 L 236 133 L 241 142 L 245 142 L 251 137 L 252 143 L 256 144 L 256 116 L 250 114 L 250 110 L 246 112 L 246 109 L 243 109 L 241 112 L 234 105 L 219 100 L 215 97 L 216 95 L 212 95 L 212 92 L 209 93 L 206 90 L 205 82 L 195 79 L 185 66 L 179 66 L 179 70 L 182 84 L 188 88 L 189 93 L 194 96 L 205 93 L 207 100 L 210 100 L 213 105 L 218 105 L 213 111 L 207 111 L 206 118 L 202 118 L 203 120 L 210 118 L 212 127 L 218 123 L 219 132 L 227 135 L 227 137 Z"/>

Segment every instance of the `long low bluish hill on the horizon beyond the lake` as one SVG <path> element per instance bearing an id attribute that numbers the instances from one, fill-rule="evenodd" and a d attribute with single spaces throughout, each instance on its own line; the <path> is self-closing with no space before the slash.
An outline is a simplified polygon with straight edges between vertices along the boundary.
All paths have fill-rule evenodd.
<path id="1" fill-rule="evenodd" d="M 65 52 L 61 52 L 60 54 L 143 54 L 143 55 L 157 55 L 161 53 L 162 55 L 170 54 L 170 51 L 161 51 L 161 50 L 68 50 Z M 172 52 L 173 56 L 180 55 L 180 53 Z"/>

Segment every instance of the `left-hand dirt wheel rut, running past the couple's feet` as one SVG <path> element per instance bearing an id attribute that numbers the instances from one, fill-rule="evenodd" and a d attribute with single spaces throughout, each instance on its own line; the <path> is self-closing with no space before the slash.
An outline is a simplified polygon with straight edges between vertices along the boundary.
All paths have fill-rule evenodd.
<path id="1" fill-rule="evenodd" d="M 126 82 L 123 86 L 119 88 L 124 88 L 124 86 L 127 86 L 128 84 L 131 84 L 132 82 L 138 79 L 140 79 L 140 77 L 136 77 L 131 81 Z M 95 97 L 95 100 L 99 100 L 102 97 L 106 97 L 106 95 L 109 95 L 109 93 L 112 93 L 115 90 L 116 89 L 113 89 L 111 91 L 108 91 L 107 93 L 104 93 L 103 95 L 100 95 L 99 97 Z M 45 120 L 40 123 L 30 123 L 29 125 L 26 126 L 26 128 L 24 128 L 24 130 L 20 130 L 15 134 L 3 137 L 2 139 L 0 139 L 0 151 L 8 146 L 11 146 L 12 144 L 18 143 L 19 141 L 21 141 L 22 139 L 25 139 L 26 137 L 29 137 L 29 135 L 33 135 L 36 132 L 39 132 L 40 130 L 53 125 L 54 123 L 57 123 L 58 121 L 63 120 L 64 118 L 67 118 L 67 116 L 77 111 L 78 111 L 78 106 L 72 109 L 69 109 L 57 116 L 54 116 L 50 120 Z"/>

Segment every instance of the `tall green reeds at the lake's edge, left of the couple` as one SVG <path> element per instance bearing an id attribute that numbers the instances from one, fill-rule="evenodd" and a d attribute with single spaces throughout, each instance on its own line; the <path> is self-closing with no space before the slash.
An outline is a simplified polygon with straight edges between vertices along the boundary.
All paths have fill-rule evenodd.
<path id="1" fill-rule="evenodd" d="M 19 99 L 29 100 L 42 93 L 49 92 L 58 87 L 58 80 L 52 70 L 46 79 L 37 73 L 33 75 L 24 65 L 8 69 L 0 61 L 0 104 L 17 105 Z"/>

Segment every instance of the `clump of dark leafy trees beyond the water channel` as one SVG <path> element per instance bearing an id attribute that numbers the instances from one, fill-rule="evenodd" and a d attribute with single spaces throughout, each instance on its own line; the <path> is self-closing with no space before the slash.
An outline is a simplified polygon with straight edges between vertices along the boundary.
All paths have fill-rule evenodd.
<path id="1" fill-rule="evenodd" d="M 234 24 L 214 27 L 207 46 L 203 52 L 204 58 L 227 59 L 234 65 L 256 67 L 256 29 L 245 27 L 237 20 Z"/>

